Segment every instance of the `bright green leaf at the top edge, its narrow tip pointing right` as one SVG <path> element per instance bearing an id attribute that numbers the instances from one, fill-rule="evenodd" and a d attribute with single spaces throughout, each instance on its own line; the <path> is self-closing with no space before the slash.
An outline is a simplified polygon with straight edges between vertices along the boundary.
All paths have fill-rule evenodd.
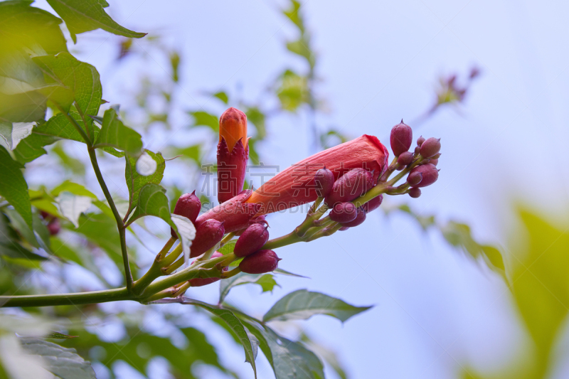
<path id="1" fill-rule="evenodd" d="M 129 38 L 142 38 L 147 35 L 131 31 L 116 23 L 105 12 L 105 8 L 109 6 L 105 0 L 48 0 L 48 3 L 63 18 L 75 43 L 77 43 L 77 34 L 98 28 Z"/>

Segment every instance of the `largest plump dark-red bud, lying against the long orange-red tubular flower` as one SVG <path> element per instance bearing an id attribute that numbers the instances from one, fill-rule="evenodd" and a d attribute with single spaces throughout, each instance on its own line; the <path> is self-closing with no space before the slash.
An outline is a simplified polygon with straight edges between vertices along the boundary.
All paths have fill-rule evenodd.
<path id="1" fill-rule="evenodd" d="M 326 197 L 326 204 L 331 207 L 336 203 L 352 201 L 373 187 L 373 172 L 353 169 L 334 183 L 332 192 Z"/>

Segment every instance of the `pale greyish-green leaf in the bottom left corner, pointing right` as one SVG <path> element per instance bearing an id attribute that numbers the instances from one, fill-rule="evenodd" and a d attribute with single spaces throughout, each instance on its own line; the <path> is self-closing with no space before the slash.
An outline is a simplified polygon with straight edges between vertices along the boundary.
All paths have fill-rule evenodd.
<path id="1" fill-rule="evenodd" d="M 65 379 L 95 379 L 91 363 L 81 358 L 74 348 L 63 348 L 55 343 L 38 338 L 21 338 L 23 349 L 28 354 L 41 356 L 43 368 Z"/>

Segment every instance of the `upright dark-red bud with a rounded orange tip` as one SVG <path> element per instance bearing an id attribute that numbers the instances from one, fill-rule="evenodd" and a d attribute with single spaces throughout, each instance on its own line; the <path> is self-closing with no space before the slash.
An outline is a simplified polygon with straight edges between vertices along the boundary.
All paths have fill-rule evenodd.
<path id="1" fill-rule="evenodd" d="M 218 201 L 223 203 L 243 191 L 249 159 L 247 116 L 229 108 L 219 118 Z"/>

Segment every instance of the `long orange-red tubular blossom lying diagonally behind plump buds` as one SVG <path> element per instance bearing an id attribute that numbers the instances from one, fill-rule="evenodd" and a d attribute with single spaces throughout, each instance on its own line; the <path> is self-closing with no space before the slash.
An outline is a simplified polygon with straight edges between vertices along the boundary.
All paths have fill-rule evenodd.
<path id="1" fill-rule="evenodd" d="M 260 213 L 311 203 L 318 197 L 314 174 L 326 167 L 337 180 L 351 169 L 366 169 L 373 172 L 373 183 L 388 166 L 389 152 L 379 139 L 368 134 L 320 151 L 290 166 L 257 189 L 248 203 L 260 205 Z"/>

